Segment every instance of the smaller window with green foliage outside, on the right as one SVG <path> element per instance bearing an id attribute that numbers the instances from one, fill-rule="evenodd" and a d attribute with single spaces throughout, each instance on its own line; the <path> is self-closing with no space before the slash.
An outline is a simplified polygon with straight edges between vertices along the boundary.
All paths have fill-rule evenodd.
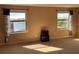
<path id="1" fill-rule="evenodd" d="M 71 29 L 71 15 L 69 11 L 57 11 L 57 28 Z"/>

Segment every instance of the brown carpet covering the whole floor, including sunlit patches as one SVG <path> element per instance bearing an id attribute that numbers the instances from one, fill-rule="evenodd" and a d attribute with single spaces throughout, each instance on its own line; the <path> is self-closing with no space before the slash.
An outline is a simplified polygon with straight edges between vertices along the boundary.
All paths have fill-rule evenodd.
<path id="1" fill-rule="evenodd" d="M 78 54 L 79 39 L 52 39 L 0 46 L 0 54 Z"/>

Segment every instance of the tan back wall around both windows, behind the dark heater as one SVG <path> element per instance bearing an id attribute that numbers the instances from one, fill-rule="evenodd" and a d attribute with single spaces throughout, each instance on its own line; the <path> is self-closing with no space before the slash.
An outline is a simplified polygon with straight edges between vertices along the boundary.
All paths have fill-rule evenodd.
<path id="1" fill-rule="evenodd" d="M 28 41 L 36 41 L 39 40 L 40 30 L 43 26 L 47 26 L 49 30 L 50 39 L 64 38 L 69 36 L 69 32 L 67 30 L 59 30 L 57 29 L 57 20 L 56 20 L 56 10 L 70 10 L 70 8 L 51 8 L 51 7 L 23 7 L 23 6 L 3 6 L 5 8 L 10 9 L 28 9 L 28 19 L 27 22 L 27 32 L 25 33 L 16 33 L 11 34 L 9 37 L 9 43 L 12 42 L 28 42 Z M 73 15 L 73 37 L 76 35 L 76 9 L 72 8 L 74 11 Z M 0 15 L 2 16 L 2 14 Z M 2 21 L 3 19 L 0 18 Z M 4 27 L 0 23 L 0 27 Z M 2 28 L 3 29 L 3 28 Z M 1 31 L 1 30 L 0 30 Z M 0 33 L 0 37 L 3 35 Z M 1 36 L 2 35 L 2 36 Z"/>

